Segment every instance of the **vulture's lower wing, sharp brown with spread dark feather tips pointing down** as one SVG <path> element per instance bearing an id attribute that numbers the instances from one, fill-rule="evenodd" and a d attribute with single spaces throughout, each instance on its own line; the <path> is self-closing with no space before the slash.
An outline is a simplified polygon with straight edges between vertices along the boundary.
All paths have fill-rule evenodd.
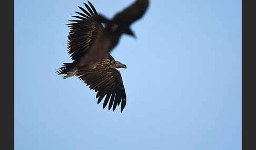
<path id="1" fill-rule="evenodd" d="M 121 113 L 126 104 L 126 94 L 124 90 L 123 80 L 121 73 L 115 68 L 106 69 L 106 63 L 100 63 L 96 68 L 86 68 L 80 70 L 77 74 L 78 78 L 86 83 L 91 90 L 97 92 L 96 98 L 99 98 L 99 104 L 102 99 L 106 98 L 103 102 L 103 109 L 109 103 L 109 110 L 113 105 L 113 111 L 116 105 L 121 103 Z"/>

